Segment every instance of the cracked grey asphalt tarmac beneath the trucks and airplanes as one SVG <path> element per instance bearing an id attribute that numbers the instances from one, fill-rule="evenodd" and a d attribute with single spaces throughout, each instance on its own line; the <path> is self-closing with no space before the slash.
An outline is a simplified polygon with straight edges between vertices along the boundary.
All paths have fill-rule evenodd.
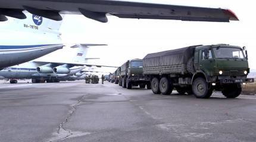
<path id="1" fill-rule="evenodd" d="M 256 141 L 256 96 L 154 95 L 113 83 L 0 85 L 0 141 Z"/>

